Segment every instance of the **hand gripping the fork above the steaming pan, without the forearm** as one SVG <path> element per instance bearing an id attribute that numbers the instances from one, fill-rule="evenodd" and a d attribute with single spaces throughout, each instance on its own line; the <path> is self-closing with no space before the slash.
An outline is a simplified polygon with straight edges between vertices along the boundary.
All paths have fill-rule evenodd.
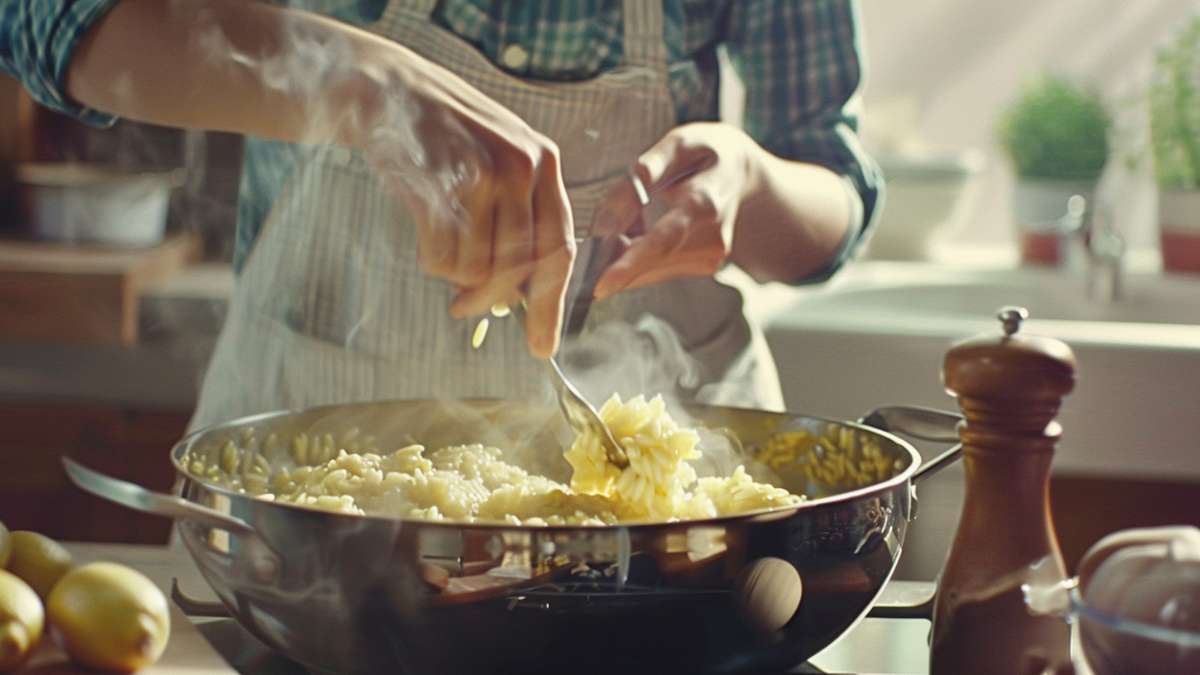
<path id="1" fill-rule="evenodd" d="M 415 215 L 419 259 L 460 289 L 450 313 L 527 301 L 530 351 L 558 348 L 575 261 L 558 148 L 449 71 L 415 58 L 366 88 L 352 136 Z"/>

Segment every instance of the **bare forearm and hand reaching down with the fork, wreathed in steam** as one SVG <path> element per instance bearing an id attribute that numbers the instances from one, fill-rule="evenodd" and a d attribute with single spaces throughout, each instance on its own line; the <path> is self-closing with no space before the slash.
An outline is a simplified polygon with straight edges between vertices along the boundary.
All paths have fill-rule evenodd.
<path id="1" fill-rule="evenodd" d="M 140 121 L 361 150 L 413 215 L 421 267 L 462 291 L 451 315 L 523 298 L 530 352 L 558 348 L 575 261 L 558 148 L 449 70 L 266 2 L 121 0 L 66 84 Z"/>

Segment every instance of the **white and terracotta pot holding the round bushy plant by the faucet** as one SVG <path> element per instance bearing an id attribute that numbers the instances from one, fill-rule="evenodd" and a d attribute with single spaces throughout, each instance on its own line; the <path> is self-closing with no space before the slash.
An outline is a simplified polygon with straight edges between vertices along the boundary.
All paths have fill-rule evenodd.
<path id="1" fill-rule="evenodd" d="M 1021 262 L 1044 265 L 1066 262 L 1066 246 L 1056 228 L 1067 213 L 1067 201 L 1074 195 L 1082 196 L 1088 204 L 1088 211 L 1084 214 L 1086 219 L 1094 193 L 1094 180 L 1018 179 L 1013 193 L 1013 217 Z"/>

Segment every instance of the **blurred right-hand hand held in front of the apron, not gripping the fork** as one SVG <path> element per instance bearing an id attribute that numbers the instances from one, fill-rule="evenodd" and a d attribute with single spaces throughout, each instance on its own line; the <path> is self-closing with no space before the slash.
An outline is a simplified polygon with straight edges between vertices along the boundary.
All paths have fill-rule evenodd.
<path id="1" fill-rule="evenodd" d="M 695 123 L 673 129 L 642 154 L 632 173 L 668 209 L 647 226 L 634 181 L 613 187 L 593 232 L 620 235 L 626 247 L 598 281 L 595 297 L 715 274 L 732 251 L 738 210 L 757 186 L 762 153 L 734 126 Z"/>

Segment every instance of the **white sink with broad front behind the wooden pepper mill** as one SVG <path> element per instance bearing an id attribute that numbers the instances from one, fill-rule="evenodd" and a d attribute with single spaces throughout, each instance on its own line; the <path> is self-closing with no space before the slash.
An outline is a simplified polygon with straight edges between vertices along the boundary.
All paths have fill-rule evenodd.
<path id="1" fill-rule="evenodd" d="M 875 405 L 953 408 L 947 348 L 1021 305 L 1022 330 L 1067 341 L 1079 359 L 1060 420 L 1056 471 L 1200 480 L 1200 277 L 1130 275 L 1117 301 L 1090 300 L 1081 276 L 859 263 L 820 289 L 750 298 L 767 325 L 792 410 L 846 418 Z"/>

